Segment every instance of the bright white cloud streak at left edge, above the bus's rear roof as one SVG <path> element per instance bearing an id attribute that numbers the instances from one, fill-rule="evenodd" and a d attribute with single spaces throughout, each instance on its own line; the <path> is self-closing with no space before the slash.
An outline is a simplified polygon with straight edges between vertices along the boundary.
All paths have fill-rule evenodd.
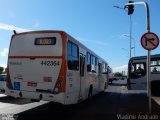
<path id="1" fill-rule="evenodd" d="M 0 29 L 1 29 L 1 30 L 9 30 L 9 31 L 16 30 L 16 31 L 18 31 L 18 32 L 31 31 L 31 30 L 29 30 L 29 29 L 16 27 L 16 26 L 14 26 L 14 25 L 2 23 L 2 22 L 0 22 Z"/>

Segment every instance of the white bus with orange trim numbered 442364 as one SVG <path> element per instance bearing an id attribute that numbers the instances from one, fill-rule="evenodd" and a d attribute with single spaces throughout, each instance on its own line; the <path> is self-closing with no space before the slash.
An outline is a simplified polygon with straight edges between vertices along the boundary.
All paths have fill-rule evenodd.
<path id="1" fill-rule="evenodd" d="M 76 104 L 107 88 L 107 67 L 64 31 L 15 33 L 9 48 L 7 94 Z"/>

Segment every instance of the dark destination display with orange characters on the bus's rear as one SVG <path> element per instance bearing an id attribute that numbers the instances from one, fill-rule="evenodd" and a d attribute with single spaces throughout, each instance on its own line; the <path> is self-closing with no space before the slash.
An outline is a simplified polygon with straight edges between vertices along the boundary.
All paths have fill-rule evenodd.
<path id="1" fill-rule="evenodd" d="M 55 45 L 56 37 L 35 38 L 35 45 Z"/>

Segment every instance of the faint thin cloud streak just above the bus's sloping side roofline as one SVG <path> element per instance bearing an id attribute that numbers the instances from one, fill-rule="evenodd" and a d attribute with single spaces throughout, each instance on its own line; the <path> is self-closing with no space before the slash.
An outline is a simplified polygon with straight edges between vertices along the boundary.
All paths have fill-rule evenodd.
<path id="1" fill-rule="evenodd" d="M 111 44 L 109 44 L 109 43 L 107 43 L 105 41 L 89 40 L 89 39 L 84 39 L 84 38 L 79 38 L 79 37 L 76 37 L 76 39 L 81 41 L 81 42 L 88 42 L 88 43 L 98 44 L 98 45 L 103 45 L 103 46 L 111 46 Z"/>

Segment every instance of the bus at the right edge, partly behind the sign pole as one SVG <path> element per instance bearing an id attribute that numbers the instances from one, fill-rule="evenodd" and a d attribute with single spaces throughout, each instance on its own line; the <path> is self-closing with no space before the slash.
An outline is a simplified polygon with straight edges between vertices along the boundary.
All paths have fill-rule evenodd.
<path id="1" fill-rule="evenodd" d="M 160 94 L 160 54 L 151 55 L 151 91 Z M 128 64 L 128 87 L 147 90 L 147 56 L 132 57 Z"/>

